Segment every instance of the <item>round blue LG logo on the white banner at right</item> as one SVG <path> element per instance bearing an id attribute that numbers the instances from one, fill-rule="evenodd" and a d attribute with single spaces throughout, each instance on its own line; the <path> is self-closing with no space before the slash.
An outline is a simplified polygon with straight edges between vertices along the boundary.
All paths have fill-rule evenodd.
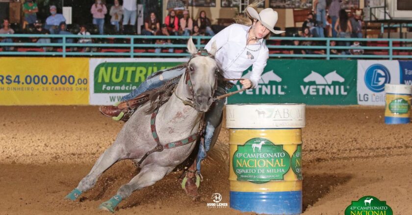
<path id="1" fill-rule="evenodd" d="M 373 64 L 365 71 L 365 84 L 374 92 L 385 90 L 385 84 L 390 82 L 389 70 L 382 64 Z"/>

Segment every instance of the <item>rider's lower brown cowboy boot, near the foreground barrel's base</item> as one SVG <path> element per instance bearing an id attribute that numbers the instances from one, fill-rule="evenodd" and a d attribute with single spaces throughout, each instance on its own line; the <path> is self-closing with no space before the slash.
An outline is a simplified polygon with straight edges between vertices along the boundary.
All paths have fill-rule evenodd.
<path id="1" fill-rule="evenodd" d="M 186 170 L 183 174 L 185 177 L 182 180 L 181 187 L 186 192 L 186 194 L 193 200 L 196 200 L 200 194 L 198 192 L 198 187 L 200 185 L 200 177 L 196 173 L 196 160 L 193 164 Z"/>

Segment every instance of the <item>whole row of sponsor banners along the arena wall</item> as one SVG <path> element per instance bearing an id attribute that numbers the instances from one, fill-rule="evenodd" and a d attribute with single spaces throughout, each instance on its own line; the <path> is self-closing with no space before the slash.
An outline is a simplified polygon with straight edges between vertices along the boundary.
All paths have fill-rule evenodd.
<path id="1" fill-rule="evenodd" d="M 186 61 L 1 57 L 0 105 L 110 105 L 154 72 Z M 269 59 L 259 86 L 229 97 L 228 104 L 384 106 L 385 84 L 412 85 L 412 61 Z"/>

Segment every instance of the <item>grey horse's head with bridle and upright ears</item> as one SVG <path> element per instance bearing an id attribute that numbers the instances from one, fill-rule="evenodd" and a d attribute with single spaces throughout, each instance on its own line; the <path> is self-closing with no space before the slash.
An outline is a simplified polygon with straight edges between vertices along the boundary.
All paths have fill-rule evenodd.
<path id="1" fill-rule="evenodd" d="M 192 38 L 187 42 L 187 50 L 192 54 L 185 72 L 185 82 L 192 94 L 194 108 L 206 112 L 213 102 L 213 93 L 217 87 L 218 66 L 214 59 L 216 43 L 210 52 L 197 50 Z"/>

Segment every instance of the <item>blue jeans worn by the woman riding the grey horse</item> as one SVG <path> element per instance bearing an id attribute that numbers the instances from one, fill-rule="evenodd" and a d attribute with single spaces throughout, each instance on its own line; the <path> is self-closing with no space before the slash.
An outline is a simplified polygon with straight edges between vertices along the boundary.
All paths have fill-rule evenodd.
<path id="1" fill-rule="evenodd" d="M 142 84 L 140 84 L 140 86 L 138 86 L 128 95 L 123 96 L 122 101 L 133 99 L 147 90 L 151 90 L 159 86 L 162 86 L 167 81 L 175 77 L 181 76 L 184 73 L 185 69 L 186 68 L 179 68 L 179 69 L 165 71 L 161 74 L 162 80 L 160 80 L 160 75 L 156 75 L 156 73 L 152 74 Z M 176 82 L 179 82 L 179 79 Z M 226 87 L 218 85 L 215 91 L 215 95 L 217 96 L 223 95 L 227 93 L 227 91 L 228 89 Z M 211 145 L 213 136 L 218 135 L 218 133 L 215 133 L 215 129 L 221 123 L 221 120 L 222 120 L 221 116 L 223 112 L 223 106 L 225 105 L 225 101 L 226 101 L 225 99 L 218 100 L 216 105 L 210 108 L 206 112 L 206 117 L 205 117 L 206 129 L 205 129 L 205 136 L 204 136 L 205 141 L 203 144 L 200 145 L 197 159 L 196 159 L 196 168 L 198 172 L 200 172 L 201 161 L 206 158 L 206 152 L 209 151 L 213 147 Z"/>

